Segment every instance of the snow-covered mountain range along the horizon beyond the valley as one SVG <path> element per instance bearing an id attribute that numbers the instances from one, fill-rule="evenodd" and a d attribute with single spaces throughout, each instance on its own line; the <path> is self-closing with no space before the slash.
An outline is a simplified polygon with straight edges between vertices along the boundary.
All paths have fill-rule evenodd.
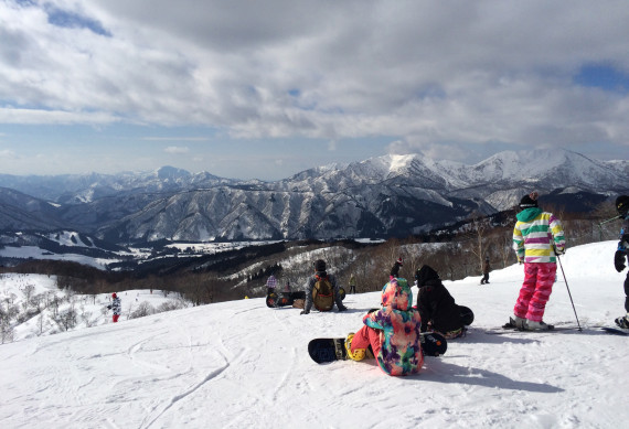
<path id="1" fill-rule="evenodd" d="M 471 165 L 384 155 L 276 182 L 172 167 L 0 174 L 0 229 L 71 229 L 114 244 L 407 236 L 509 210 L 532 190 L 586 211 L 626 193 L 628 183 L 629 161 L 567 150 L 505 151 Z"/>

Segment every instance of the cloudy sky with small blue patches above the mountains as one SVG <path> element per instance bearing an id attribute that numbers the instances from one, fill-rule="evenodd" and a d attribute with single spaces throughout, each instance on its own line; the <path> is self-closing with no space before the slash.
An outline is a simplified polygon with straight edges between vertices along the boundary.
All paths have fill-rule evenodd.
<path id="1" fill-rule="evenodd" d="M 0 173 L 629 158 L 629 2 L 0 0 Z"/>

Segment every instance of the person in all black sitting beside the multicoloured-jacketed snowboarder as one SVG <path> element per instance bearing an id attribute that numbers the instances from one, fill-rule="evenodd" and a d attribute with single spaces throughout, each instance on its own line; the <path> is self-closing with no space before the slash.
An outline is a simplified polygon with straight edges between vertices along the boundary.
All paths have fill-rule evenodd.
<path id="1" fill-rule="evenodd" d="M 457 305 L 431 267 L 424 265 L 415 272 L 415 279 L 419 288 L 417 310 L 422 314 L 422 332 L 437 331 L 446 339 L 465 335 L 466 324 L 473 320 L 471 310 Z"/>

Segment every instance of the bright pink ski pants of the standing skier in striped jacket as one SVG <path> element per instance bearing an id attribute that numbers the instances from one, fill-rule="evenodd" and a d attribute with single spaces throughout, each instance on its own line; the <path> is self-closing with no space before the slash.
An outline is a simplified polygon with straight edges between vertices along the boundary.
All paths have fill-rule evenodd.
<path id="1" fill-rule="evenodd" d="M 557 265 L 555 262 L 524 264 L 524 282 L 515 302 L 513 314 L 541 322 L 546 302 L 551 298 Z"/>

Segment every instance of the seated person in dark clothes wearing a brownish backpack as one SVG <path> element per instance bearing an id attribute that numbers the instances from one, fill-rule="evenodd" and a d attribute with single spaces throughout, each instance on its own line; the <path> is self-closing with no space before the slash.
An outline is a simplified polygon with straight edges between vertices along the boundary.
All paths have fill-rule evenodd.
<path id="1" fill-rule="evenodd" d="M 337 277 L 328 274 L 326 261 L 317 259 L 313 264 L 314 275 L 306 283 L 306 304 L 300 314 L 310 313 L 312 305 L 319 311 L 331 311 L 337 304 L 339 311 L 345 311 L 339 293 Z"/>

